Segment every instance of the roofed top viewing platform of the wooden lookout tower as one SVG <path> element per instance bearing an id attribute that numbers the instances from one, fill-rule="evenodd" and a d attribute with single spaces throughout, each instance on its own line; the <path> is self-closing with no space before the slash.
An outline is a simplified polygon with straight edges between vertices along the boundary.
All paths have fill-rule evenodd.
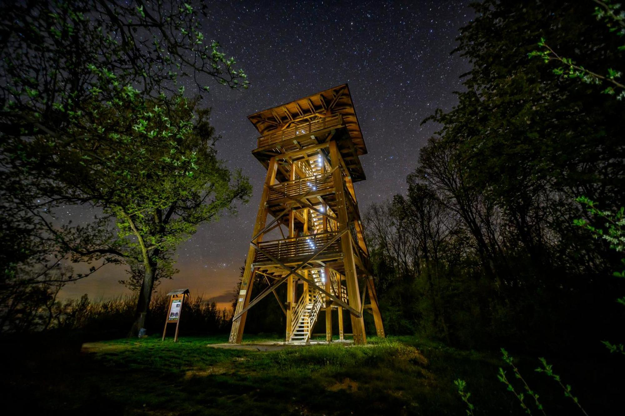
<path id="1" fill-rule="evenodd" d="M 352 181 L 365 179 L 359 156 L 367 153 L 347 84 L 247 117 L 261 134 L 252 154 L 268 166 L 283 154 L 289 162 L 319 152 L 322 144 L 337 142 Z"/>

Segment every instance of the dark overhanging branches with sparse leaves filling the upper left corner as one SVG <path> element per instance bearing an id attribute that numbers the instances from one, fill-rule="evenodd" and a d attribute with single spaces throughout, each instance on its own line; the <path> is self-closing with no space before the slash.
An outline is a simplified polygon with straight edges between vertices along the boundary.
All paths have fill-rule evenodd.
<path id="1" fill-rule="evenodd" d="M 116 156 L 115 152 L 128 150 L 124 149 L 128 143 L 114 135 L 131 137 L 124 129 L 134 127 L 129 121 L 137 122 L 129 117 L 132 110 L 155 111 L 159 107 L 169 112 L 176 108 L 179 97 L 174 94 L 183 91 L 180 81 L 184 78 L 192 77 L 200 93 L 207 93 L 209 79 L 235 88 L 247 87 L 247 77 L 235 69 L 236 62 L 221 52 L 217 42 L 204 39 L 201 17 L 207 14 L 205 6 L 198 10 L 183 2 L 51 0 L 4 2 L 0 12 L 1 209 L 4 217 L 20 219 L 6 224 L 2 232 L 7 238 L 26 236 L 17 240 L 16 249 L 7 255 L 0 289 L 15 296 L 37 282 L 46 281 L 42 283 L 46 287 L 51 281 L 60 285 L 85 276 L 64 273 L 62 279 L 49 279 L 54 264 L 63 259 L 104 259 L 106 263 L 128 255 L 118 250 L 118 236 L 106 227 L 59 227 L 50 220 L 55 207 L 64 204 L 103 206 L 102 202 L 111 202 L 99 199 L 103 190 L 76 187 L 72 177 L 76 167 L 85 170 L 93 164 L 95 172 L 107 166 L 109 173 L 133 172 L 141 177 L 141 171 L 114 169 L 114 164 L 128 165 L 117 156 L 131 156 Z M 110 124 L 108 131 L 101 126 L 105 117 L 119 121 L 121 132 Z M 187 117 L 182 126 L 174 127 L 175 134 L 180 134 L 176 139 L 186 135 L 176 127 L 189 130 L 190 123 Z M 146 126 L 151 124 L 146 122 Z M 141 124 L 136 127 L 140 129 Z M 164 147 L 178 150 L 177 146 L 180 143 L 159 143 L 154 152 L 164 152 Z M 214 161 L 210 164 L 214 173 L 224 173 Z M 174 162 L 182 163 L 179 172 L 194 170 L 188 159 L 175 157 L 160 161 L 160 168 L 151 168 L 171 174 L 174 170 L 165 164 Z M 226 192 L 217 188 L 214 195 Z M 108 215 L 113 214 L 111 210 Z M 201 216 L 193 217 L 190 224 Z M 177 235 L 188 234 L 191 228 Z"/>

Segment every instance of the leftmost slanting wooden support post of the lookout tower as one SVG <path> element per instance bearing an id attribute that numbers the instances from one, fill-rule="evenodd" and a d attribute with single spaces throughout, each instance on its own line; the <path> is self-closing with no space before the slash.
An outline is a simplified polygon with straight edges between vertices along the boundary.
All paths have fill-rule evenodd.
<path id="1" fill-rule="evenodd" d="M 272 157 L 269 161 L 269 168 L 267 169 L 267 176 L 265 178 L 265 184 L 262 189 L 261 203 L 258 207 L 258 213 L 256 214 L 256 223 L 254 224 L 254 232 L 252 232 L 252 238 L 262 230 L 267 222 L 267 199 L 269 198 L 269 186 L 271 186 L 276 180 L 277 172 L 277 160 L 276 157 Z M 252 240 L 254 244 L 257 244 L 262 239 L 262 234 L 256 237 L 256 240 Z M 252 263 L 254 263 L 254 255 L 256 255 L 256 249 L 250 245 L 247 250 L 247 259 L 245 262 L 245 271 L 241 279 L 241 291 L 238 295 L 236 309 L 234 309 L 234 316 L 239 314 L 244 307 L 249 304 L 249 298 L 252 294 L 252 286 L 254 285 L 254 270 Z M 241 315 L 239 319 L 232 321 L 232 329 L 230 331 L 230 344 L 241 344 L 243 339 L 243 329 L 245 327 L 245 319 L 247 312 Z"/>

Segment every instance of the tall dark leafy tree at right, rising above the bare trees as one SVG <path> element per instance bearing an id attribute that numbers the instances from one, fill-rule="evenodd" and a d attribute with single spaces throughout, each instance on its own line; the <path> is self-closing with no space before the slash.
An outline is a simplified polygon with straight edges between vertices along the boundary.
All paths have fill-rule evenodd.
<path id="1" fill-rule="evenodd" d="M 514 250 L 506 247 L 508 255 L 527 255 L 532 275 L 542 282 L 559 273 L 554 267 L 579 264 L 570 257 L 573 250 L 561 250 L 566 247 L 561 239 L 592 255 L 587 238 L 569 227 L 581 214 L 572 202 L 579 192 L 609 199 L 615 207 L 623 202 L 617 179 L 625 175 L 622 104 L 569 78 L 554 79 L 549 67 L 527 59 L 537 39 L 545 37 L 564 56 L 590 57 L 592 67 L 614 67 L 619 39 L 598 30 L 593 5 L 475 4 L 478 17 L 461 29 L 456 49 L 473 64 L 464 81 L 467 91 L 458 94 L 452 111 L 431 117 L 442 124 L 441 143 L 428 147 L 451 149 L 453 166 L 466 172 L 462 189 L 473 189 L 501 212 L 504 232 L 520 243 Z M 425 170 L 432 167 L 423 163 L 428 152 L 422 152 Z M 495 249 L 504 237 L 492 235 L 492 252 L 501 253 Z M 499 258 L 492 259 L 499 274 L 509 274 L 507 260 Z"/>

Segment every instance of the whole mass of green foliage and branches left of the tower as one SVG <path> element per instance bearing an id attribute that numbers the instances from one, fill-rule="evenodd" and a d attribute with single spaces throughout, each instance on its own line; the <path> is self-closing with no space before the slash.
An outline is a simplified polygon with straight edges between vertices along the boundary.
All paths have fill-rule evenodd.
<path id="1" fill-rule="evenodd" d="M 59 285 L 86 275 L 59 275 L 64 260 L 124 259 L 145 268 L 144 316 L 153 259 L 171 259 L 197 224 L 246 198 L 244 179 L 216 158 L 208 112 L 194 119 L 196 102 L 179 84 L 192 77 L 204 93 L 210 79 L 247 87 L 234 59 L 204 39 L 205 14 L 161 1 L 0 7 L 1 209 L 16 218 L 2 238 L 21 237 L 3 259 L 0 289 L 16 310 L 41 305 L 27 294 L 35 287 L 53 299 Z M 80 227 L 54 221 L 57 207 L 77 203 L 105 216 Z M 119 232 L 106 226 L 113 218 Z M 16 328 L 7 322 L 2 330 Z"/>

